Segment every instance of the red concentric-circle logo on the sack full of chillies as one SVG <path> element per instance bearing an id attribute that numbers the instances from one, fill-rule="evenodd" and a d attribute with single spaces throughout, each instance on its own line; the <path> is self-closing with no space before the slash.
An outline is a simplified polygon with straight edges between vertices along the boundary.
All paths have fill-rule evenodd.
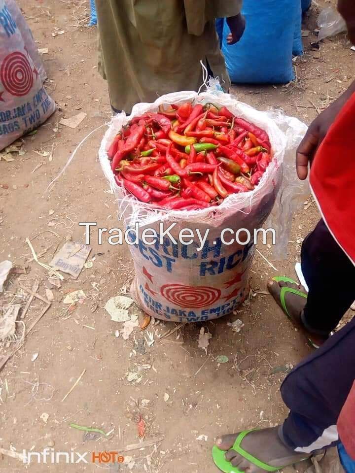
<path id="1" fill-rule="evenodd" d="M 204 307 L 216 302 L 220 290 L 207 286 L 182 286 L 181 284 L 165 284 L 160 293 L 169 302 L 180 307 Z"/>

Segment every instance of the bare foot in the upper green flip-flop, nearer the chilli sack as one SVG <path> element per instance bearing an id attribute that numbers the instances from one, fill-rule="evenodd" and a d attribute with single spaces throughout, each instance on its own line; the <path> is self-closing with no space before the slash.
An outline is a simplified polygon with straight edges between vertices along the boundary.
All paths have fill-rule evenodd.
<path id="1" fill-rule="evenodd" d="M 299 284 L 294 284 L 291 282 L 284 282 L 284 281 L 274 281 L 273 279 L 270 279 L 268 281 L 268 290 L 270 294 L 273 296 L 275 301 L 277 302 L 278 305 L 284 310 L 284 307 L 281 304 L 281 290 L 283 287 L 289 287 L 292 289 L 297 289 L 298 291 L 304 293 L 307 295 L 306 289 L 299 285 Z M 291 320 L 292 324 L 299 329 L 303 335 L 306 337 L 307 342 L 315 347 L 318 348 L 320 345 L 322 345 L 327 337 L 322 337 L 320 335 L 313 334 L 309 332 L 305 326 L 302 323 L 302 312 L 304 309 L 304 306 L 306 305 L 307 299 L 299 296 L 297 294 L 292 294 L 291 292 L 286 293 L 285 295 L 285 304 L 287 307 L 287 312 L 289 319 Z"/>

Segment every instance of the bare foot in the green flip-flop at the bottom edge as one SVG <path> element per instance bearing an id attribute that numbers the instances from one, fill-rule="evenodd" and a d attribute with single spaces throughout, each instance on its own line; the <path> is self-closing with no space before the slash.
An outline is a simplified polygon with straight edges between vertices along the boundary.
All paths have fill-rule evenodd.
<path id="1" fill-rule="evenodd" d="M 275 468 L 292 465 L 310 456 L 307 453 L 295 452 L 288 448 L 279 437 L 279 428 L 270 427 L 252 431 L 242 440 L 241 447 L 253 457 Z M 224 435 L 216 440 L 217 447 L 226 452 L 225 459 L 241 472 L 265 473 L 265 470 L 255 466 L 233 450 L 232 447 L 238 435 Z"/>

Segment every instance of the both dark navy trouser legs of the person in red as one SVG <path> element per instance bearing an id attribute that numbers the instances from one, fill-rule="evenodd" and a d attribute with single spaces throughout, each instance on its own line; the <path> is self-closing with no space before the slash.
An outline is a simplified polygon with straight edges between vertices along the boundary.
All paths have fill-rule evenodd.
<path id="1" fill-rule="evenodd" d="M 322 220 L 303 242 L 301 265 L 309 287 L 303 322 L 328 335 L 355 301 L 355 266 Z M 336 423 L 354 379 L 355 318 L 284 379 L 284 442 L 306 453 L 338 444 Z"/>

